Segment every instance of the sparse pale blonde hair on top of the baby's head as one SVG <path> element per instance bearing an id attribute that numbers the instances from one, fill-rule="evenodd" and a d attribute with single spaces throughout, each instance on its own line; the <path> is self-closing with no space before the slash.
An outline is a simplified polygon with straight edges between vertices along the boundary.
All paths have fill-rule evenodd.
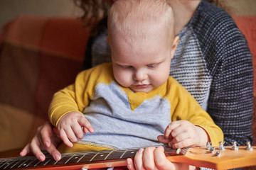
<path id="1" fill-rule="evenodd" d="M 121 33 L 130 41 L 146 40 L 156 27 L 166 28 L 166 38 L 173 40 L 174 14 L 166 0 L 118 0 L 110 8 L 110 36 Z"/>

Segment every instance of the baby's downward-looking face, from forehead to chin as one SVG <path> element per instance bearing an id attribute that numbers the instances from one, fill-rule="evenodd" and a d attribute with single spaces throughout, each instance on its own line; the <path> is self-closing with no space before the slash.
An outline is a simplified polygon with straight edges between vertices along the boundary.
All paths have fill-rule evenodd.
<path id="1" fill-rule="evenodd" d="M 149 92 L 169 77 L 171 45 L 162 37 L 129 43 L 122 35 L 109 37 L 114 78 L 134 92 Z M 165 38 L 166 39 L 166 38 Z"/>

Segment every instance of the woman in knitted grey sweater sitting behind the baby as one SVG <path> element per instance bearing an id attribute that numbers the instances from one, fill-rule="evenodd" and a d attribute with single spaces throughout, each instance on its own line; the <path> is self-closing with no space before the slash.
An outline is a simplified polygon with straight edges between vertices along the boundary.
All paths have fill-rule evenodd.
<path id="1" fill-rule="evenodd" d="M 90 11 L 88 6 L 96 6 L 96 9 L 100 6 L 107 11 L 104 3 L 77 2 L 87 12 Z M 112 4 L 114 1 L 105 2 Z M 170 75 L 186 87 L 223 130 L 225 145 L 231 145 L 233 141 L 238 145 L 252 142 L 252 57 L 245 38 L 228 13 L 207 1 L 169 0 L 169 4 L 174 10 L 175 32 L 180 37 Z M 97 10 L 93 13 L 97 17 Z M 85 68 L 110 59 L 104 21 L 90 38 Z M 43 160 L 41 149 L 46 149 L 55 159 L 60 159 L 55 145 L 50 142 L 50 135 L 56 139 L 52 127 L 46 123 L 38 129 L 38 134 L 23 149 L 21 156 L 32 151 Z M 127 166 L 129 169 L 174 168 L 164 156 L 162 147 L 149 147 L 138 152 L 134 162 L 127 159 Z"/>

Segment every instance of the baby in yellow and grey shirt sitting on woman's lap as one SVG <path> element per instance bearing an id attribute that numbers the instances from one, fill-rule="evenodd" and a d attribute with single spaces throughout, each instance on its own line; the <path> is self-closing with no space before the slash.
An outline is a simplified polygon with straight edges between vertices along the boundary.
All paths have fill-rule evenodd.
<path id="1" fill-rule="evenodd" d="M 210 115 L 169 77 L 178 37 L 166 1 L 116 1 L 107 42 L 112 63 L 81 72 L 53 96 L 50 122 L 72 147 L 62 145 L 62 152 L 223 141 Z"/>

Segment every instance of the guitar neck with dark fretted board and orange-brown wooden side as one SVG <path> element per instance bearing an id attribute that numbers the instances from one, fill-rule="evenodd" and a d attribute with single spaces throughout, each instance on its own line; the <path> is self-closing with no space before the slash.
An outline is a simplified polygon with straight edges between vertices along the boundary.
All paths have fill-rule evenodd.
<path id="1" fill-rule="evenodd" d="M 164 146 L 168 155 L 186 154 L 187 149 L 176 153 L 176 149 Z M 46 155 L 44 162 L 34 156 L 0 159 L 0 169 L 86 169 L 126 166 L 126 159 L 133 158 L 139 148 L 105 150 L 102 152 L 75 152 L 62 154 L 58 162 L 50 155 Z"/>

